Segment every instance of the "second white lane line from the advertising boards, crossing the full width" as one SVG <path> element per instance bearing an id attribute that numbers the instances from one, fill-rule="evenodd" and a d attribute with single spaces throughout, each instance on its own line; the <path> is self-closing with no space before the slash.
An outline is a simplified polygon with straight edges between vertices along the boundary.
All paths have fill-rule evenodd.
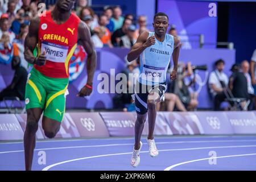
<path id="1" fill-rule="evenodd" d="M 177 142 L 156 142 L 156 144 L 181 144 L 181 143 L 222 143 L 222 142 L 256 142 L 256 140 L 195 140 L 195 141 L 177 141 Z M 93 146 L 71 146 L 71 147 L 51 147 L 51 148 L 37 148 L 35 151 L 41 150 L 62 150 L 72 148 L 93 148 L 93 147 L 114 147 L 114 146 L 132 146 L 134 143 L 114 143 L 114 144 L 97 144 Z M 143 143 L 147 144 L 147 143 Z M 3 151 L 0 154 L 10 154 L 16 152 L 24 152 L 24 150 Z"/>

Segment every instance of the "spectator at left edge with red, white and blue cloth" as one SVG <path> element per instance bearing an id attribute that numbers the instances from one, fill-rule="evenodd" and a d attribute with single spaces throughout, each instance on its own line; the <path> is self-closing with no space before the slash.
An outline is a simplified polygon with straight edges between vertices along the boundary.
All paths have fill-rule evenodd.
<path id="1" fill-rule="evenodd" d="M 10 43 L 10 35 L 4 32 L 0 39 L 0 63 L 9 64 L 13 58 L 13 45 Z"/>

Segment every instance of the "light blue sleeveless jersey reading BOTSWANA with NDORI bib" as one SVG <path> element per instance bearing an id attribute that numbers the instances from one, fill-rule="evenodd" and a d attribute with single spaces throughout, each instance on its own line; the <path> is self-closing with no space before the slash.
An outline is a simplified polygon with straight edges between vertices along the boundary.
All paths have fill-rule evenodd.
<path id="1" fill-rule="evenodd" d="M 155 32 L 149 32 L 148 38 Z M 155 38 L 155 44 L 141 53 L 141 74 L 138 81 L 144 85 L 157 85 L 166 81 L 167 69 L 174 51 L 174 36 L 166 34 L 163 42 Z"/>

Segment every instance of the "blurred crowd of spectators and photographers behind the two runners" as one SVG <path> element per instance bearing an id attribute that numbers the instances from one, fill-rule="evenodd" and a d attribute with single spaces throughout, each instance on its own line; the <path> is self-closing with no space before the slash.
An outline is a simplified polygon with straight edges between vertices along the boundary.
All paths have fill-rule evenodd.
<path id="1" fill-rule="evenodd" d="M 38 15 L 39 1 L 35 0 L 3 0 L 0 1 L 0 64 L 12 64 L 15 70 L 13 82 L 6 89 L 0 92 L 0 101 L 6 93 L 24 100 L 24 86 L 28 69 L 27 61 L 24 60 L 24 39 L 28 33 L 30 20 Z M 52 10 L 54 5 L 48 5 L 47 9 Z M 73 13 L 80 17 L 88 27 L 96 48 L 102 47 L 123 47 L 131 48 L 138 36 L 147 30 L 147 17 L 134 16 L 133 14 L 123 15 L 119 6 L 105 6 L 101 14 L 94 13 L 88 6 L 87 0 L 77 1 Z M 171 35 L 177 36 L 175 26 L 168 30 Z M 183 46 L 181 44 L 181 46 Z M 213 110 L 225 109 L 223 102 L 228 103 L 230 110 L 251 110 L 256 107 L 254 104 L 256 93 L 256 50 L 251 61 L 244 60 L 240 65 L 234 64 L 228 77 L 224 72 L 225 61 L 216 60 L 214 71 L 208 79 L 209 96 L 213 102 Z M 128 77 L 129 73 L 139 73 L 139 59 L 127 62 L 127 68 L 123 71 Z M 169 69 L 168 73 L 171 72 Z M 24 71 L 25 70 L 25 71 Z M 164 102 L 158 104 L 158 110 L 166 111 L 194 111 L 199 105 L 196 88 L 197 71 L 191 63 L 179 63 L 177 79 L 168 81 L 168 87 L 164 95 Z M 127 88 L 135 81 L 126 81 Z M 135 110 L 132 93 L 117 94 L 113 103 L 115 108 L 124 110 Z"/>

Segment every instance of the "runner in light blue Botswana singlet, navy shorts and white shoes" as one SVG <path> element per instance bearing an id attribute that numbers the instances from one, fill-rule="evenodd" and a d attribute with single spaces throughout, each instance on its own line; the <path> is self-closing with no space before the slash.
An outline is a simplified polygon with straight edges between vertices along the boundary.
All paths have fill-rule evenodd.
<path id="1" fill-rule="evenodd" d="M 131 157 L 131 166 L 137 167 L 140 162 L 139 152 L 142 148 L 141 135 L 148 115 L 147 143 L 150 156 L 158 155 L 153 137 L 156 104 L 163 100 L 166 86 L 166 75 L 171 56 L 174 69 L 170 75 L 171 80 L 176 79 L 177 62 L 179 59 L 180 40 L 176 36 L 166 34 L 169 18 L 165 13 L 154 16 L 154 32 L 142 32 L 137 42 L 127 55 L 128 61 L 141 58 L 141 74 L 135 85 L 135 108 L 137 120 L 135 122 L 135 144 Z"/>

